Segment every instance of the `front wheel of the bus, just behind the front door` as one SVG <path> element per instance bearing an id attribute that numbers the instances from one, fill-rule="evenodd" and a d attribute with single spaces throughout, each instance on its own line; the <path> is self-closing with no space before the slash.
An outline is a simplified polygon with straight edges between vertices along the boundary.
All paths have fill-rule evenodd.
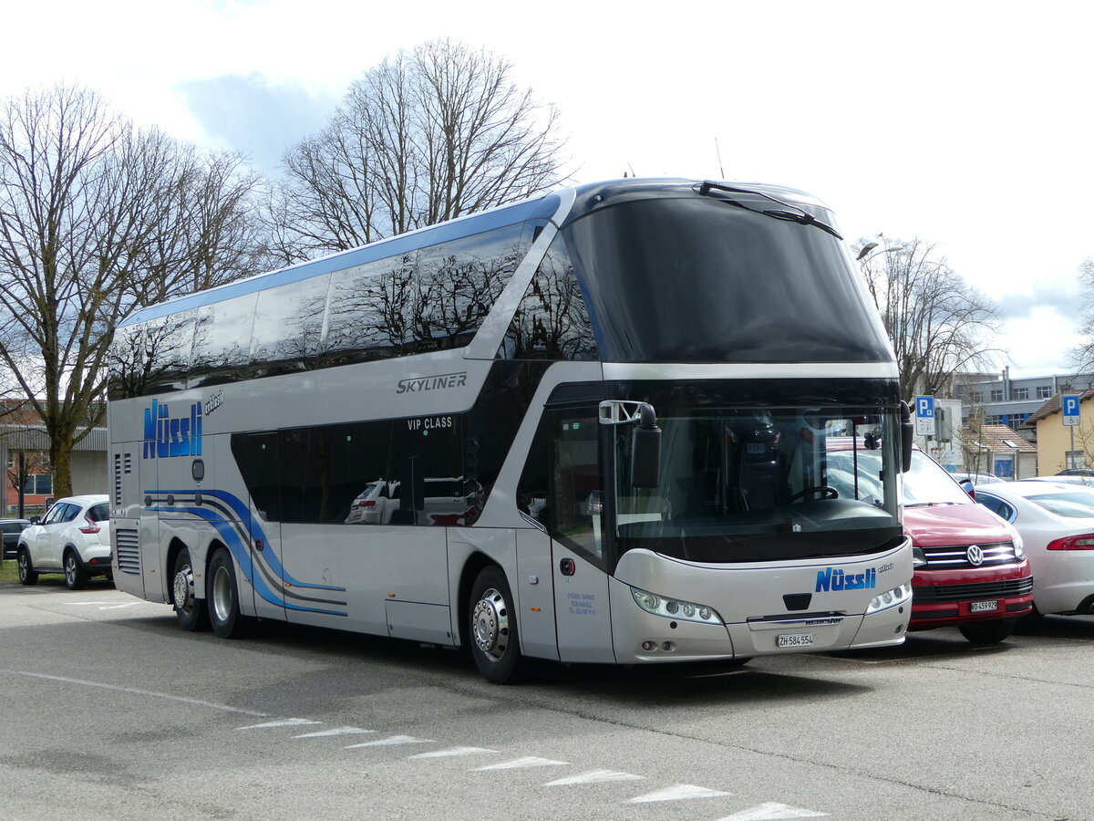
<path id="1" fill-rule="evenodd" d="M 524 669 L 513 604 L 505 574 L 484 567 L 472 586 L 467 635 L 476 667 L 493 684 L 514 684 Z"/>

